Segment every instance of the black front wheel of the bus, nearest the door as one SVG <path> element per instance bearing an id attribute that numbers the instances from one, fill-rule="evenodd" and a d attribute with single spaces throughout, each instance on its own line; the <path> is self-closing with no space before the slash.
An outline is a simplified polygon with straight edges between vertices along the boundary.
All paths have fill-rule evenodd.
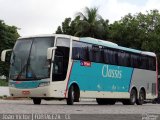
<path id="1" fill-rule="evenodd" d="M 74 86 L 72 85 L 68 91 L 67 105 L 73 105 L 75 98 Z"/>

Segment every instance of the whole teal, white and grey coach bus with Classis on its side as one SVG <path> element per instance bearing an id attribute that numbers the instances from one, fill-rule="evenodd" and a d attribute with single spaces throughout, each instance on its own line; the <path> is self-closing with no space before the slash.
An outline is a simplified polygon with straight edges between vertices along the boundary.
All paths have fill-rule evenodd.
<path id="1" fill-rule="evenodd" d="M 100 105 L 142 105 L 158 96 L 156 54 L 109 41 L 62 34 L 20 37 L 12 51 L 12 97 L 41 100 L 96 99 Z"/>

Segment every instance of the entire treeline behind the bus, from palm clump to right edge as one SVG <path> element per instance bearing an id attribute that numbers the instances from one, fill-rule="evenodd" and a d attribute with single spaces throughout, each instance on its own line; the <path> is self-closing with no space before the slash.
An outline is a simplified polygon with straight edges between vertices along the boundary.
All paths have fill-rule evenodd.
<path id="1" fill-rule="evenodd" d="M 80 37 L 94 37 L 109 40 L 124 47 L 159 53 L 160 51 L 160 14 L 158 10 L 147 14 L 125 15 L 121 20 L 109 24 L 97 8 L 85 8 L 76 18 L 66 18 L 56 33 Z"/>

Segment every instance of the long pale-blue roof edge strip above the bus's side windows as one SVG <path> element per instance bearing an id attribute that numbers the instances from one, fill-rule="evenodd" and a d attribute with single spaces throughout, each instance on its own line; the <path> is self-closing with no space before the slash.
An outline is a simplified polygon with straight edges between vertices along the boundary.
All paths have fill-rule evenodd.
<path id="1" fill-rule="evenodd" d="M 96 45 L 100 45 L 100 46 L 115 48 L 115 49 L 119 49 L 119 50 L 124 50 L 124 51 L 128 51 L 128 52 L 144 54 L 144 55 L 148 55 L 148 56 L 156 56 L 156 54 L 153 52 L 141 51 L 141 50 L 136 50 L 136 49 L 132 49 L 132 48 L 122 47 L 122 46 L 118 46 L 118 44 L 110 42 L 110 41 L 99 40 L 99 39 L 95 39 L 95 38 L 91 38 L 91 37 L 81 37 L 80 41 L 86 42 L 86 43 L 92 43 L 92 44 L 96 44 Z"/>

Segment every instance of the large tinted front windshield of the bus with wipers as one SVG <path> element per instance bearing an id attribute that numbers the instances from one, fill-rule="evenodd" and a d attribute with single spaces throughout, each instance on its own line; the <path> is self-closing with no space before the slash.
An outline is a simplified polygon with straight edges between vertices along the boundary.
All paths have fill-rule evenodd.
<path id="1" fill-rule="evenodd" d="M 50 63 L 47 60 L 47 49 L 53 46 L 53 37 L 19 39 L 12 52 L 10 79 L 17 81 L 48 78 Z"/>

